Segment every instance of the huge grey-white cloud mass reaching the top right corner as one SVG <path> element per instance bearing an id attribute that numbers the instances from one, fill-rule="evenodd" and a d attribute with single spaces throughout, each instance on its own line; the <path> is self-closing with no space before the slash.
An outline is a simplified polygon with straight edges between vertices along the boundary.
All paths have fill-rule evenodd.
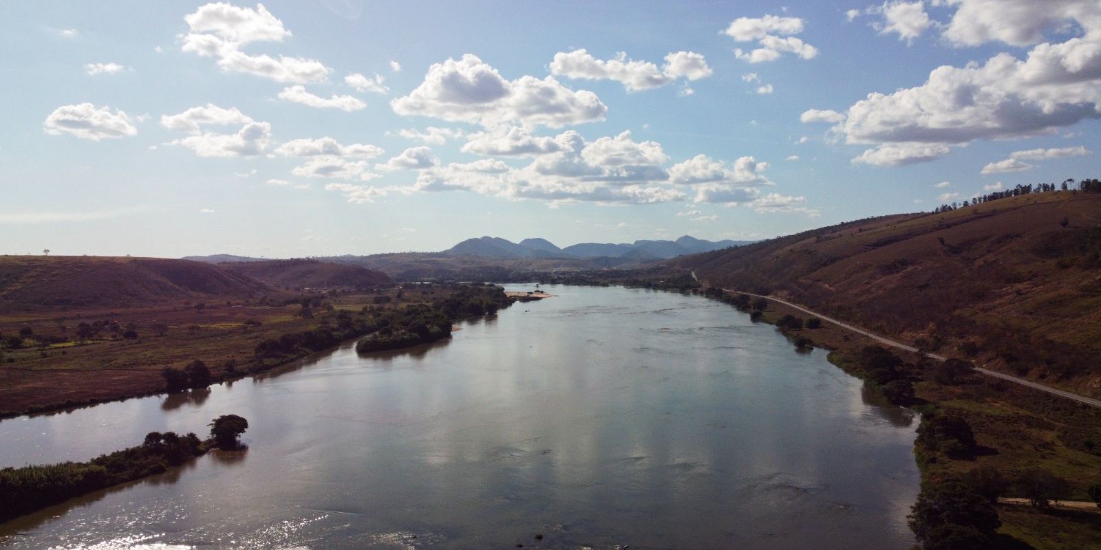
<path id="1" fill-rule="evenodd" d="M 1101 118 L 1101 7 L 1095 1 L 958 0 L 953 6 L 944 35 L 959 45 L 1036 44 L 1046 31 L 1078 35 L 1038 43 L 1024 58 L 1000 53 L 984 63 L 946 65 L 920 86 L 869 94 L 832 129 L 848 143 L 879 145 L 858 162 L 928 161 L 947 154 L 949 145 L 1051 133 Z M 900 150 L 916 154 L 894 154 Z"/>

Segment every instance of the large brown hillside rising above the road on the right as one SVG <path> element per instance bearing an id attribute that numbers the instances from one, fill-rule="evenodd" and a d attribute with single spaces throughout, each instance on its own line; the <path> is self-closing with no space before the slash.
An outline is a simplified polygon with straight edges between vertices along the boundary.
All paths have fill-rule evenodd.
<path id="1" fill-rule="evenodd" d="M 711 286 L 786 296 L 1099 396 L 1099 253 L 1101 195 L 1053 191 L 860 220 L 676 264 Z"/>

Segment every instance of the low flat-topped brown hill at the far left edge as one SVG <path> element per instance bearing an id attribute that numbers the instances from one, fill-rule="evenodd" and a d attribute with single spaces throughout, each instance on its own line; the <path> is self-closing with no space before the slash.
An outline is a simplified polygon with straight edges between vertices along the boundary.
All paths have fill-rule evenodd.
<path id="1" fill-rule="evenodd" d="M 0 311 L 144 307 L 275 292 L 221 267 L 152 257 L 0 256 Z"/>

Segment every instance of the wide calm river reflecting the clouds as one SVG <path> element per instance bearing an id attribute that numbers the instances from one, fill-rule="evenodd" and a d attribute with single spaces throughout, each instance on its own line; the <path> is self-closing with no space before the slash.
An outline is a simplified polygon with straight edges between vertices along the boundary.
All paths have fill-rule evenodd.
<path id="1" fill-rule="evenodd" d="M 251 426 L 246 452 L 4 524 L 0 547 L 914 544 L 916 419 L 826 352 L 697 296 L 544 289 L 408 352 L 346 344 L 231 386 L 0 421 L 0 466 L 231 413 Z"/>

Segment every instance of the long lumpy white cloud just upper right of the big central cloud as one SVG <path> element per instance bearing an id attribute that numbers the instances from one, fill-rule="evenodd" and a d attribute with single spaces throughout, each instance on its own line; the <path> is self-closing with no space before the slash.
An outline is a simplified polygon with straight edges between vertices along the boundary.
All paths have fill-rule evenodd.
<path id="1" fill-rule="evenodd" d="M 566 78 L 615 80 L 628 91 L 648 90 L 665 86 L 677 78 L 698 80 L 711 76 L 704 56 L 695 52 L 674 52 L 665 56 L 659 68 L 651 62 L 628 59 L 620 52 L 612 59 L 598 59 L 586 50 L 558 52 L 550 62 L 550 74 Z"/>

